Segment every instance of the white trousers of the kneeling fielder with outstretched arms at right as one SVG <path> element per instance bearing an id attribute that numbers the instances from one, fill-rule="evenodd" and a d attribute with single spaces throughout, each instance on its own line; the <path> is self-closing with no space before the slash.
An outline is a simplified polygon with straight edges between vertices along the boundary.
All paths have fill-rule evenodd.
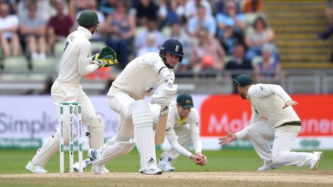
<path id="1" fill-rule="evenodd" d="M 247 128 L 247 133 L 257 154 L 265 164 L 298 167 L 310 165 L 311 153 L 290 151 L 299 132 L 273 129 L 267 122 L 262 121 L 251 124 Z M 274 138 L 272 148 L 266 138 Z"/>

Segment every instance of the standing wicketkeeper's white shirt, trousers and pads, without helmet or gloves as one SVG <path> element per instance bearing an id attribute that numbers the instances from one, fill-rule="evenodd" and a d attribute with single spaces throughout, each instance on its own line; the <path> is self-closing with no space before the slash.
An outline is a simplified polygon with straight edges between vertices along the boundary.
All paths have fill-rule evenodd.
<path id="1" fill-rule="evenodd" d="M 100 115 L 96 115 L 94 107 L 86 93 L 79 85 L 82 76 L 85 76 L 98 68 L 96 64 L 90 64 L 90 41 L 92 33 L 84 27 L 78 27 L 76 31 L 67 37 L 61 57 L 59 76 L 51 88 L 51 97 L 55 105 L 57 117 L 60 121 L 59 105 L 63 102 L 78 102 L 82 109 L 82 122 L 91 132 L 90 146 L 99 148 L 103 146 L 103 124 Z M 66 107 L 66 106 L 65 106 Z M 74 106 L 77 114 L 77 107 Z M 65 108 L 67 111 L 67 108 Z M 64 141 L 69 139 L 69 112 L 64 112 Z M 74 133 L 74 137 L 76 134 Z M 34 166 L 45 166 L 52 155 L 59 150 L 59 125 L 57 132 L 52 134 L 49 141 L 38 149 L 37 154 L 31 159 Z"/>

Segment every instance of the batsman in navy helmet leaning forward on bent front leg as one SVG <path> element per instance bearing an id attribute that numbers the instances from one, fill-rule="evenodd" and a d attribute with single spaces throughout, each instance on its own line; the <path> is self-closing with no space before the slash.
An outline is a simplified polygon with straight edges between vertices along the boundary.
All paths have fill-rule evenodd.
<path id="1" fill-rule="evenodd" d="M 140 173 L 161 174 L 157 168 L 152 112 L 143 99 L 151 96 L 159 105 L 170 103 L 177 92 L 172 69 L 181 62 L 182 44 L 166 40 L 160 53 L 145 53 L 132 60 L 116 78 L 108 93 L 109 106 L 119 114 L 113 146 L 90 149 L 88 156 L 96 174 L 104 174 L 103 165 L 129 153 L 134 144 L 140 154 Z M 156 90 L 156 91 L 155 91 Z M 134 140 L 131 141 L 134 135 Z"/>

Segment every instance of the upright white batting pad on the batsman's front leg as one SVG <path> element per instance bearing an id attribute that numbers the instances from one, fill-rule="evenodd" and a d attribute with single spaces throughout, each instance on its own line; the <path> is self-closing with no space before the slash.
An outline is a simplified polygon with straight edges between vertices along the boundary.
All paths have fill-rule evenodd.
<path id="1" fill-rule="evenodd" d="M 132 113 L 134 141 L 140 153 L 141 169 L 145 171 L 150 164 L 156 165 L 153 117 L 144 100 L 134 102 Z"/>

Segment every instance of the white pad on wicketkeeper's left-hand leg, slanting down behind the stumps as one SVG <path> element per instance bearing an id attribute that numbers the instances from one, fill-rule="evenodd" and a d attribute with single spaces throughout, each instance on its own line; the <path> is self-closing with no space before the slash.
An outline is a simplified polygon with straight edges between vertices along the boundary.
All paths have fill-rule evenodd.
<path id="1" fill-rule="evenodd" d="M 76 134 L 73 133 L 73 137 Z M 64 145 L 69 143 L 69 132 L 64 130 Z M 49 141 L 45 143 L 40 149 L 37 150 L 35 156 L 31 159 L 34 166 L 45 166 L 49 159 L 59 151 L 59 133 L 52 134 Z"/>

